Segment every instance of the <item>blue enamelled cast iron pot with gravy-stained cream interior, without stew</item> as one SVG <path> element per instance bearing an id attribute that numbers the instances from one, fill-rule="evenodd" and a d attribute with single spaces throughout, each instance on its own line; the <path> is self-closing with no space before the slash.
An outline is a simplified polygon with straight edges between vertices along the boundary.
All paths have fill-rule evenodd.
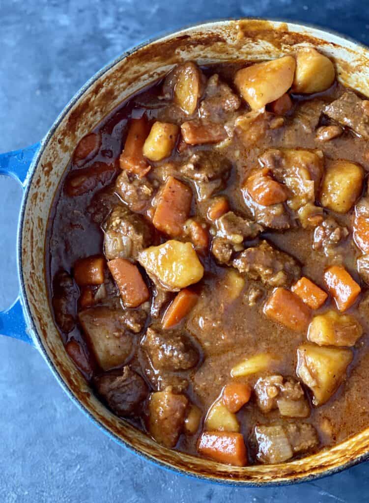
<path id="1" fill-rule="evenodd" d="M 339 35 L 280 21 L 217 21 L 183 29 L 122 54 L 92 77 L 64 108 L 46 137 L 24 150 L 0 155 L 0 173 L 16 177 L 24 194 L 18 224 L 20 294 L 0 313 L 0 333 L 35 346 L 70 398 L 119 444 L 173 470 L 238 485 L 292 483 L 327 475 L 369 457 L 369 428 L 330 449 L 278 465 L 236 468 L 160 446 L 112 414 L 92 393 L 67 356 L 54 325 L 45 277 L 46 228 L 59 181 L 79 140 L 127 97 L 196 60 L 263 60 L 313 45 L 334 60 L 337 76 L 369 96 L 369 49 Z"/>

